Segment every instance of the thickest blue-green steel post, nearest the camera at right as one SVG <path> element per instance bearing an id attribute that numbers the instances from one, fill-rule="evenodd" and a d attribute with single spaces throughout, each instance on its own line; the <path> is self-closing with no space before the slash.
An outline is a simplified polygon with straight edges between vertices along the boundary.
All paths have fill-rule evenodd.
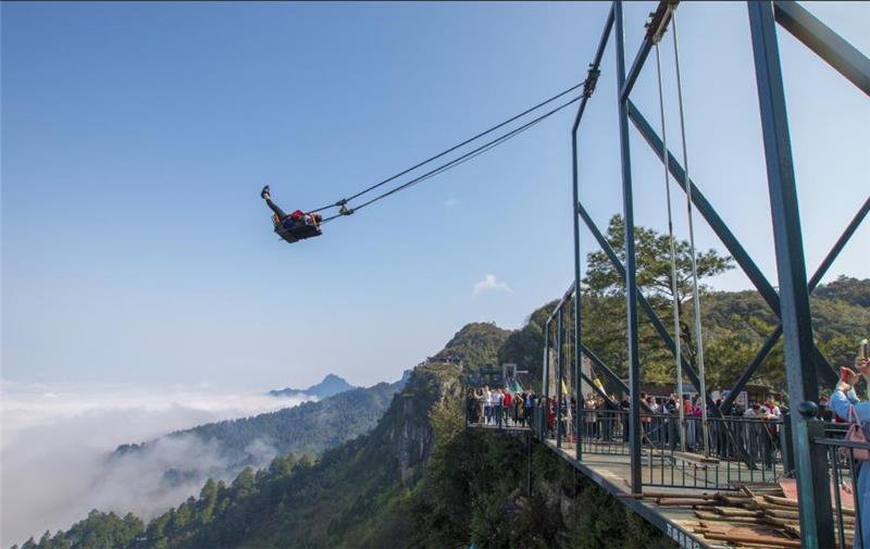
<path id="1" fill-rule="evenodd" d="M 804 547 L 809 549 L 834 547 L 826 462 L 823 453 L 813 451 L 810 439 L 810 415 L 815 415 L 812 412 L 817 409 L 819 384 L 812 363 L 809 292 L 776 24 L 770 1 L 747 4 L 776 252 L 788 395 L 800 412 L 791 414 L 800 537 Z"/>

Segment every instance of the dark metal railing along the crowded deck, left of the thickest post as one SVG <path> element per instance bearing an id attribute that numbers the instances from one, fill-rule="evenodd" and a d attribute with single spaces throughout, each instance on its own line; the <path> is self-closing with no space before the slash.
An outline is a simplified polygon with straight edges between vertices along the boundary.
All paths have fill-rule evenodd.
<path id="1" fill-rule="evenodd" d="M 535 399 L 532 408 L 521 411 L 469 399 L 465 413 L 469 425 L 530 428 L 537 438 L 558 440 L 563 448 L 579 442 L 581 456 L 630 451 L 626 410 L 581 409 L 575 422 L 575 409 L 562 404 L 557 414 L 555 404 L 545 399 Z M 641 424 L 645 486 L 731 489 L 741 483 L 775 482 L 792 469 L 785 461 L 787 433 L 781 420 L 710 417 L 706 454 L 700 417 L 685 417 L 681 426 L 676 415 L 642 413 Z"/>

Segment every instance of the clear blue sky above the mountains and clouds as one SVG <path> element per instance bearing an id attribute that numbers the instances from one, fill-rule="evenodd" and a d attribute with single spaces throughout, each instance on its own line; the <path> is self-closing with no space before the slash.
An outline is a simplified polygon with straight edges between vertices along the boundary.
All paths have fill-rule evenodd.
<path id="1" fill-rule="evenodd" d="M 805 5 L 870 51 L 866 4 Z M 631 57 L 654 7 L 626 5 Z M 371 384 L 465 322 L 519 327 L 572 276 L 570 113 L 300 245 L 258 192 L 334 201 L 580 82 L 607 10 L 2 4 L 3 378 Z M 678 14 L 693 178 L 775 284 L 746 8 Z M 780 43 L 812 270 L 870 188 L 870 102 Z M 669 39 L 662 54 L 674 144 Z M 601 225 L 620 209 L 612 67 L 611 43 L 581 130 Z M 658 127 L 655 77 L 648 63 L 633 100 Z M 663 228 L 660 165 L 632 139 L 637 222 Z M 865 224 L 832 275 L 867 277 L 868 241 Z"/>

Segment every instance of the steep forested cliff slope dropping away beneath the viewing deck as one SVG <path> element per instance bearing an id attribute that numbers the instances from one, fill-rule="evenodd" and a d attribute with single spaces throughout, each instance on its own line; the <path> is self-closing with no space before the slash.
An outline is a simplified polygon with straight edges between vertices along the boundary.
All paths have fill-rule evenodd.
<path id="1" fill-rule="evenodd" d="M 476 360 L 493 363 L 506 334 L 469 325 L 450 352 L 485 344 Z M 94 511 L 24 548 L 671 547 L 543 448 L 525 494 L 522 439 L 463 428 L 461 375 L 457 364 L 417 367 L 371 434 L 314 464 L 276 458 L 229 485 L 209 481 L 199 498 L 147 525 Z"/>

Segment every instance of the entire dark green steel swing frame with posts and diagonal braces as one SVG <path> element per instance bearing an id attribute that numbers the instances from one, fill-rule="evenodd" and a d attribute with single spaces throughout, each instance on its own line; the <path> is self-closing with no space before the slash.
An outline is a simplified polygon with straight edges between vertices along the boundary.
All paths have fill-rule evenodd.
<path id="1" fill-rule="evenodd" d="M 545 340 L 547 348 L 544 359 L 544 394 L 550 397 L 548 379 L 550 375 L 550 346 L 552 338 L 551 328 L 558 323 L 558 351 L 556 353 L 556 370 L 559 376 L 557 392 L 560 405 L 557 412 L 557 437 L 561 442 L 559 426 L 561 425 L 561 378 L 566 371 L 562 346 L 573 339 L 575 352 L 572 355 L 574 370 L 574 398 L 577 405 L 582 402 L 580 395 L 580 379 L 589 383 L 594 389 L 608 401 L 608 395 L 592 383 L 588 376 L 582 374 L 581 360 L 588 358 L 596 371 L 604 374 L 612 384 L 621 387 L 631 396 L 630 409 L 630 456 L 632 474 L 630 485 L 633 492 L 643 491 L 641 477 L 641 409 L 638 386 L 641 378 L 637 338 L 637 309 L 651 322 L 661 340 L 675 352 L 673 338 L 668 333 L 661 320 L 650 307 L 649 302 L 639 291 L 636 284 L 636 264 L 634 250 L 634 207 L 632 199 L 632 171 L 631 150 L 629 147 L 629 122 L 641 134 L 647 145 L 664 162 L 669 172 L 684 192 L 691 190 L 693 205 L 705 219 L 707 224 L 734 258 L 737 265 L 746 274 L 755 288 L 765 299 L 771 311 L 780 319 L 780 324 L 770 334 L 767 341 L 758 350 L 755 358 L 747 365 L 734 384 L 731 395 L 723 401 L 722 408 L 730 407 L 736 396 L 743 390 L 746 383 L 756 373 L 760 364 L 782 337 L 784 339 L 786 376 L 788 392 L 794 408 L 799 413 L 790 414 L 791 446 L 794 448 L 794 463 L 797 475 L 798 492 L 800 495 L 800 526 L 804 547 L 833 547 L 834 529 L 831 519 L 831 501 L 828 475 L 828 463 L 823 450 L 815 447 L 812 440 L 823 436 L 821 425 L 815 421 L 815 401 L 818 400 L 819 382 L 833 385 L 836 382 L 836 372 L 830 362 L 819 351 L 813 342 L 810 317 L 809 295 L 819 285 L 822 277 L 842 252 L 860 224 L 870 212 L 870 196 L 858 209 L 852 221 L 846 225 L 840 238 L 834 242 L 825 258 L 817 267 L 813 275 L 807 280 L 806 262 L 804 259 L 804 245 L 800 233 L 800 215 L 797 208 L 797 191 L 795 185 L 794 164 L 791 151 L 791 138 L 785 109 L 785 95 L 782 84 L 782 70 L 780 66 L 779 45 L 776 39 L 776 25 L 787 30 L 813 53 L 852 82 L 859 90 L 870 96 L 870 60 L 855 49 L 842 37 L 836 35 L 821 21 L 816 18 L 806 9 L 793 1 L 749 0 L 749 27 L 755 58 L 756 80 L 759 99 L 759 113 L 761 117 L 762 137 L 765 144 L 765 158 L 767 163 L 768 190 L 772 217 L 772 230 L 775 245 L 776 271 L 779 292 L 770 280 L 765 277 L 758 265 L 749 257 L 743 245 L 734 236 L 728 224 L 718 214 L 704 194 L 696 187 L 680 162 L 670 150 L 666 151 L 661 138 L 643 116 L 637 107 L 631 101 L 630 96 L 637 80 L 644 63 L 654 46 L 654 35 L 664 28 L 670 21 L 671 12 L 676 8 L 676 0 L 662 0 L 657 11 L 651 14 L 652 21 L 648 25 L 647 34 L 641 48 L 634 57 L 631 67 L 625 68 L 623 12 L 621 0 L 616 0 L 608 13 L 605 27 L 596 49 L 593 62 L 588 67 L 588 77 L 584 89 L 583 99 L 577 108 L 574 124 L 571 129 L 572 151 L 572 215 L 574 230 L 574 282 L 568 288 L 552 314 L 545 324 Z M 613 33 L 613 29 L 616 32 Z M 600 63 L 610 39 L 614 35 L 617 48 L 617 85 L 619 101 L 619 133 L 620 133 L 620 161 L 622 171 L 622 198 L 623 221 L 625 223 L 625 262 L 620 261 L 616 251 L 605 239 L 601 232 L 592 221 L 588 212 L 580 200 L 580 182 L 577 164 L 577 132 L 586 110 L 586 104 L 592 97 L 598 76 Z M 577 291 L 581 282 L 580 257 L 580 222 L 583 222 L 593 235 L 595 244 L 606 253 L 613 267 L 625 282 L 626 289 L 626 346 L 629 350 L 629 384 L 605 364 L 591 349 L 583 345 L 581 330 L 582 303 Z M 574 312 L 573 337 L 564 337 L 567 328 L 564 319 Z M 576 352 L 581 350 L 582 352 Z M 683 370 L 688 378 L 699 387 L 699 379 L 692 365 L 683 359 Z M 709 399 L 709 395 L 708 395 Z M 721 416 L 721 410 L 714 412 Z M 574 414 L 579 421 L 580 413 Z M 575 433 L 579 433 L 575 424 Z M 581 445 L 576 444 L 576 460 L 582 460 Z"/>

